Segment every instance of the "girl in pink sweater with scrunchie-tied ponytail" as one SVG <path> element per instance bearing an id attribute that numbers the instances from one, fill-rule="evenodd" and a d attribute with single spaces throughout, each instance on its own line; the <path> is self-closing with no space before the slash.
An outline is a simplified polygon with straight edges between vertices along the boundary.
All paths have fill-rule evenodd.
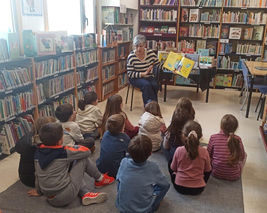
<path id="1" fill-rule="evenodd" d="M 178 147 L 168 165 L 171 182 L 181 194 L 198 195 L 203 192 L 211 173 L 209 153 L 199 146 L 201 126 L 187 121 L 182 129 L 185 145 Z"/>

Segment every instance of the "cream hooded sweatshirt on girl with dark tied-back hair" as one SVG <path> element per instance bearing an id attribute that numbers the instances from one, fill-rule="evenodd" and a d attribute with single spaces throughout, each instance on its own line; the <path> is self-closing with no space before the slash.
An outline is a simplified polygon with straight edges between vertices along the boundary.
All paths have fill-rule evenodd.
<path id="1" fill-rule="evenodd" d="M 91 133 L 98 126 L 102 125 L 103 116 L 95 105 L 85 105 L 85 110 L 78 110 L 76 123 L 80 126 L 81 132 Z"/>

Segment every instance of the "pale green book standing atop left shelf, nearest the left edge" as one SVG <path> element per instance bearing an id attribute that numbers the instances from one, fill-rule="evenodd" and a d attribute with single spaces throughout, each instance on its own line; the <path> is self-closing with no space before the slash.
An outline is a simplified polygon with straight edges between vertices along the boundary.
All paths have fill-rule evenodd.
<path id="1" fill-rule="evenodd" d="M 19 33 L 8 33 L 8 48 L 11 60 L 20 57 L 20 39 Z"/>

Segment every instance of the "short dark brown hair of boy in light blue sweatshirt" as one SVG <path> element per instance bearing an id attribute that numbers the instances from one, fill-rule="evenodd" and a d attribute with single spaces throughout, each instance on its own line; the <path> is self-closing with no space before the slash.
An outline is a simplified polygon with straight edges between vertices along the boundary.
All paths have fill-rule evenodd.
<path id="1" fill-rule="evenodd" d="M 152 141 L 149 137 L 137 135 L 130 141 L 128 152 L 135 163 L 141 163 L 151 155 L 152 147 Z"/>

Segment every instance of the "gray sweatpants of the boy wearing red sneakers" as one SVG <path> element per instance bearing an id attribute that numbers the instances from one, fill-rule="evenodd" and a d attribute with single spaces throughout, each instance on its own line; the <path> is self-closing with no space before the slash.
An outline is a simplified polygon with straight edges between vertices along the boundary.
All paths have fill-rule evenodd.
<path id="1" fill-rule="evenodd" d="M 89 158 L 74 161 L 71 171 L 69 172 L 69 185 L 53 199 L 48 198 L 48 202 L 53 206 L 64 206 L 74 201 L 77 194 L 82 197 L 85 193 L 90 192 L 83 180 L 84 173 L 93 177 L 95 180 L 101 177 L 101 173 L 98 172 L 95 164 L 93 164 Z"/>

